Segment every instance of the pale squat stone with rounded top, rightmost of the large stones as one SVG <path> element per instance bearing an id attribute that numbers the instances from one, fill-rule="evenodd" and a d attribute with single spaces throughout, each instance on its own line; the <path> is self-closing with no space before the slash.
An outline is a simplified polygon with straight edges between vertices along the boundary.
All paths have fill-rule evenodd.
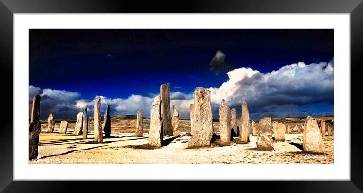
<path id="1" fill-rule="evenodd" d="M 322 153 L 321 130 L 313 117 L 308 116 L 304 124 L 304 151 Z"/>

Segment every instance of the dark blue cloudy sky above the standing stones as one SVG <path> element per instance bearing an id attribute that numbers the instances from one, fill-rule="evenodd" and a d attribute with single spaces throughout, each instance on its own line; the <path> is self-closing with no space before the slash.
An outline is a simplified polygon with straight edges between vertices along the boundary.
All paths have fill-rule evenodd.
<path id="1" fill-rule="evenodd" d="M 111 114 L 133 114 L 135 110 L 137 113 L 136 108 L 148 114 L 149 100 L 159 92 L 160 85 L 167 82 L 174 103 L 186 108 L 195 87 L 220 88 L 231 79 L 227 73 L 235 69 L 250 68 L 259 72 L 250 74 L 254 78 L 262 74 L 273 80 L 271 72 L 299 62 L 303 62 L 306 69 L 315 69 L 313 66 L 316 65 L 320 66 L 318 70 L 324 70 L 328 63 L 334 66 L 333 30 L 30 30 L 29 49 L 29 100 L 34 92 L 43 93 L 43 118 L 52 112 L 59 118 L 74 117 L 84 105 L 92 108 L 91 102 L 96 95 L 105 97 L 105 104 L 112 104 Z M 299 66 L 302 65 L 295 68 Z M 294 70 L 301 71 L 300 68 Z M 333 114 L 333 72 L 329 71 L 320 80 L 322 78 L 317 76 L 306 79 L 305 75 L 311 73 L 302 71 L 300 73 L 307 74 L 294 77 L 304 78 L 296 80 L 296 85 L 289 85 L 297 92 L 294 95 L 289 93 L 291 89 L 281 88 L 286 98 L 277 97 L 281 95 L 277 91 L 268 93 L 271 98 L 280 100 L 271 99 L 261 106 L 258 105 L 261 101 L 249 99 L 248 93 L 239 88 L 233 95 L 226 95 L 229 98 L 226 101 L 230 101 L 238 113 L 238 103 L 250 100 L 247 103 L 254 107 L 250 111 L 256 118 L 262 115 Z M 243 74 L 241 71 L 234 73 L 233 79 L 241 78 L 240 73 Z M 266 86 L 261 80 L 247 78 L 256 86 L 253 90 Z M 311 85 L 315 78 L 326 84 Z M 289 82 L 286 78 L 283 80 Z M 300 84 L 302 81 L 307 82 Z M 276 84 L 281 86 L 278 81 Z M 241 86 L 239 83 L 234 85 Z M 243 85 L 243 88 L 247 86 Z M 48 90 L 44 92 L 45 89 Z M 305 93 L 315 91 L 319 94 L 315 98 Z M 249 95 L 253 96 L 253 93 Z M 302 97 L 289 100 L 293 96 Z M 136 100 L 140 105 L 128 111 L 127 99 Z M 215 104 L 212 104 L 214 117 L 218 117 L 215 112 L 219 100 L 214 98 Z M 180 112 L 181 116 L 188 117 L 188 110 L 181 109 L 185 111 Z"/>

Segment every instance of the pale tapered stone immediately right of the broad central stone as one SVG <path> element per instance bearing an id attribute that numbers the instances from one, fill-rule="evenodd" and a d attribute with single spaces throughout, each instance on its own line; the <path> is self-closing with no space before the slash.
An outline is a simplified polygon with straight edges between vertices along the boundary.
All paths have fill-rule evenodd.
<path id="1" fill-rule="evenodd" d="M 220 114 L 220 141 L 229 143 L 231 142 L 231 111 L 225 99 L 222 99 L 218 112 Z"/>

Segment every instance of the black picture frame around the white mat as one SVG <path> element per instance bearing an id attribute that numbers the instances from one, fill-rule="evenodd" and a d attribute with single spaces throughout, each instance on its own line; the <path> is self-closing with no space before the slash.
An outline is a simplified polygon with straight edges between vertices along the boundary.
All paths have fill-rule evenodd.
<path id="1" fill-rule="evenodd" d="M 351 111 L 350 130 L 350 174 L 351 181 L 266 181 L 266 182 L 233 182 L 233 187 L 251 186 L 259 191 L 278 192 L 361 192 L 363 190 L 363 145 L 359 127 L 360 102 L 363 94 L 360 92 L 360 72 L 363 65 L 363 3 L 362 0 L 198 0 L 198 1 L 117 1 L 117 0 L 0 0 L 0 66 L 3 92 L 1 97 L 0 118 L 0 190 L 4 192 L 63 192 L 75 186 L 82 191 L 103 188 L 113 188 L 120 182 L 79 181 L 13 181 L 13 14 L 14 13 L 350 13 L 350 45 L 351 63 L 346 64 L 351 72 Z M 344 65 L 344 64 L 339 64 Z M 339 72 L 338 72 L 339 73 Z M 339 80 L 335 80 L 339 81 Z M 12 101 L 12 102 L 10 102 Z M 19 128 L 16 128 L 19 129 Z M 27 130 L 27 128 L 23 128 Z M 339 159 L 339 158 L 335 158 Z M 34 174 L 37 175 L 37 174 Z M 243 174 L 241 174 L 243 175 Z M 312 174 L 314 175 L 314 174 Z M 125 183 L 124 183 L 125 184 Z M 188 189 L 194 184 L 189 182 L 164 182 L 173 190 Z M 263 185 L 261 185 L 263 184 Z M 159 185 L 158 185 L 159 186 Z M 159 186 L 160 187 L 160 186 Z M 214 185 L 204 185 L 198 182 L 197 188 L 212 191 Z M 232 187 L 232 185 L 228 185 Z M 150 185 L 138 185 L 137 191 L 150 189 Z M 164 188 L 163 188 L 164 189 Z M 156 190 L 156 189 L 155 189 Z M 241 189 L 242 190 L 242 189 Z M 103 189 L 104 191 L 104 189 Z M 185 190 L 187 191 L 187 190 Z"/>

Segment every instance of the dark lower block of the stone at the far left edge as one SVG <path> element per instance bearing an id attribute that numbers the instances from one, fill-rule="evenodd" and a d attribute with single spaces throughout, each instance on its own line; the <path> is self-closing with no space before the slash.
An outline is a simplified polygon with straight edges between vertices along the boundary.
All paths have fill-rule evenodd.
<path id="1" fill-rule="evenodd" d="M 38 143 L 40 132 L 41 122 L 31 122 L 29 126 L 29 160 L 38 157 Z"/>

